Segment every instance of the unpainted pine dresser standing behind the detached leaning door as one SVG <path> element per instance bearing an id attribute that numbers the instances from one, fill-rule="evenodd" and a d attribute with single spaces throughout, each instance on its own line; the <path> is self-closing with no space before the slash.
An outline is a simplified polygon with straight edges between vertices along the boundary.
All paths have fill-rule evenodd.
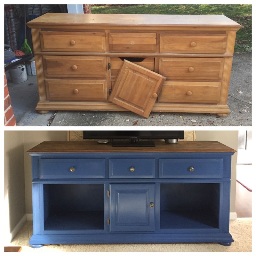
<path id="1" fill-rule="evenodd" d="M 166 77 L 152 96 L 157 100 L 151 111 L 230 113 L 227 96 L 241 25 L 224 15 L 47 13 L 27 25 L 40 113 L 126 111 L 108 101 L 124 59 Z M 136 90 L 131 94 L 123 101 L 146 104 Z"/>

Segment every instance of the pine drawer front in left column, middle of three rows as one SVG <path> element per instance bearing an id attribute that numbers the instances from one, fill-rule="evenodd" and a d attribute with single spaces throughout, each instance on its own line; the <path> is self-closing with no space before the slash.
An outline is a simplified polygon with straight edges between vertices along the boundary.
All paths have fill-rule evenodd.
<path id="1" fill-rule="evenodd" d="M 43 56 L 46 77 L 106 77 L 106 57 Z"/>

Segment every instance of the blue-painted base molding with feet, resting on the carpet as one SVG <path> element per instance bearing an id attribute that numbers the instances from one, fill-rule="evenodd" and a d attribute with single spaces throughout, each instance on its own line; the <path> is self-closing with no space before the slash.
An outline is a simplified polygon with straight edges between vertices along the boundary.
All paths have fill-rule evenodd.
<path id="1" fill-rule="evenodd" d="M 173 233 L 173 234 L 69 234 L 69 235 L 32 235 L 29 244 L 31 247 L 46 244 L 72 243 L 220 243 L 231 245 L 234 240 L 230 233 Z M 229 244 L 228 244 L 229 243 Z"/>

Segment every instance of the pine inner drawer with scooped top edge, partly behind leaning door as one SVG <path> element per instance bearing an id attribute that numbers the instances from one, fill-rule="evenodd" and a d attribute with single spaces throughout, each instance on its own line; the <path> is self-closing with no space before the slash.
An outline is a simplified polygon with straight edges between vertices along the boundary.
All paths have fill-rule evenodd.
<path id="1" fill-rule="evenodd" d="M 133 62 L 139 66 L 154 71 L 154 58 L 111 58 L 111 77 L 117 77 L 119 70 L 123 65 L 123 60 Z"/>

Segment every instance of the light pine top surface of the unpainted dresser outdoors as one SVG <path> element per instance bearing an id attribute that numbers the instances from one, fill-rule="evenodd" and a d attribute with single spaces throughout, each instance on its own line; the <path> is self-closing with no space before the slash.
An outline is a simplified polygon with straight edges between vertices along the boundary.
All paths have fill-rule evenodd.
<path id="1" fill-rule="evenodd" d="M 219 26 L 242 27 L 224 15 L 164 15 L 164 14 L 67 14 L 46 13 L 27 25 L 74 26 Z"/>

